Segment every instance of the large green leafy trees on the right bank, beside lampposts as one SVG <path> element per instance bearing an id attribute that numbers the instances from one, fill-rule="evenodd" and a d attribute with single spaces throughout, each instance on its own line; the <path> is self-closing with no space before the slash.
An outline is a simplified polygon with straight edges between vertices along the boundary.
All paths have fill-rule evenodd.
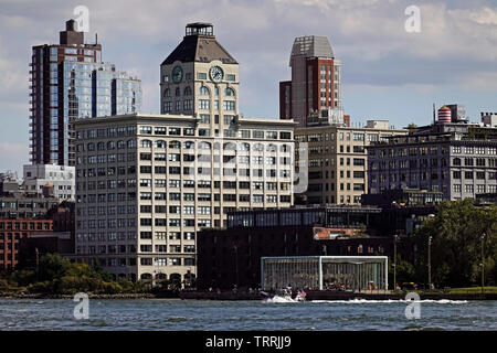
<path id="1" fill-rule="evenodd" d="M 479 284 L 482 235 L 486 282 L 495 284 L 497 206 L 475 206 L 470 199 L 444 202 L 436 216 L 416 232 L 416 279 L 427 282 L 427 247 L 431 242 L 432 282 L 463 287 Z"/>

